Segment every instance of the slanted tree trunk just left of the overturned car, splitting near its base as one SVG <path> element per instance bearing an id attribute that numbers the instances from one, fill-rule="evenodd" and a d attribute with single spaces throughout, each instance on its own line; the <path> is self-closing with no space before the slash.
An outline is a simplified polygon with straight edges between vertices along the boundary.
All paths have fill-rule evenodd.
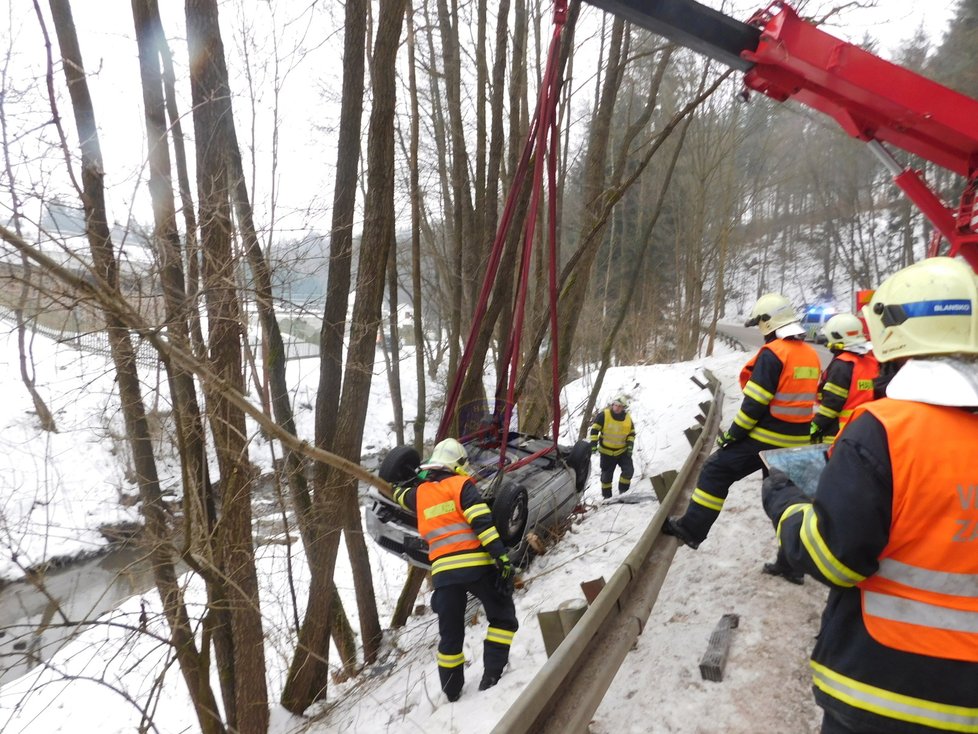
<path id="1" fill-rule="evenodd" d="M 369 400 L 370 379 L 377 352 L 380 306 L 384 295 L 387 258 L 394 242 L 394 75 L 398 39 L 404 17 L 405 0 L 382 0 L 377 41 L 372 60 L 373 106 L 367 145 L 368 216 L 364 223 L 357 273 L 357 298 L 350 325 L 350 347 L 342 383 L 342 400 L 338 411 L 320 412 L 317 403 L 317 443 L 333 437 L 335 452 L 351 461 L 360 457 L 363 426 Z M 350 6 L 347 10 L 349 12 Z M 349 30 L 349 29 L 348 29 Z M 348 36 L 349 40 L 349 36 Z M 344 82 L 344 98 L 346 97 Z M 334 287 L 331 284 L 331 289 Z M 324 325 L 325 329 L 325 325 Z M 321 375 L 322 382 L 322 375 Z M 320 399 L 322 396 L 320 396 Z M 327 429 L 326 423 L 333 426 Z M 303 711 L 326 690 L 327 625 L 321 617 L 328 613 L 330 597 L 326 579 L 332 578 L 336 562 L 335 523 L 343 525 L 353 580 L 360 611 L 364 661 L 376 656 L 380 643 L 380 621 L 373 596 L 370 566 L 367 562 L 363 529 L 360 523 L 356 480 L 321 467 L 317 477 L 314 517 L 317 537 L 313 548 L 314 572 L 310 582 L 309 606 L 299 635 L 299 648 L 289 670 L 282 703 L 290 711 Z"/>

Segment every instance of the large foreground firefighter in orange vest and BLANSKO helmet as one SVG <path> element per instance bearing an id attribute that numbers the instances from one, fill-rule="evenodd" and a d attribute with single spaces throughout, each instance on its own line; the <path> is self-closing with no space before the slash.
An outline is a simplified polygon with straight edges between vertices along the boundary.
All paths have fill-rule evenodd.
<path id="1" fill-rule="evenodd" d="M 832 448 L 814 501 L 781 472 L 764 508 L 785 557 L 829 586 L 812 652 L 822 732 L 978 731 L 978 279 L 897 272 L 863 309 L 899 369 Z"/>

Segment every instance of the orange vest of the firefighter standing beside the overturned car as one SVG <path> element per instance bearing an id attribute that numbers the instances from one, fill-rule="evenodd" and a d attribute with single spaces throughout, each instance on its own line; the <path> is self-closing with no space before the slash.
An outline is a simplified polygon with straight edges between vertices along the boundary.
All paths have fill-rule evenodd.
<path id="1" fill-rule="evenodd" d="M 489 554 L 481 550 L 482 543 L 462 512 L 459 497 L 467 481 L 467 477 L 456 475 L 437 482 L 423 482 L 418 486 L 418 532 L 428 542 L 428 558 L 433 563 L 432 573 L 437 573 L 437 559 L 450 553 L 478 550 L 479 553 L 464 554 L 472 556 L 467 560 L 476 561 L 464 565 L 492 563 Z"/>

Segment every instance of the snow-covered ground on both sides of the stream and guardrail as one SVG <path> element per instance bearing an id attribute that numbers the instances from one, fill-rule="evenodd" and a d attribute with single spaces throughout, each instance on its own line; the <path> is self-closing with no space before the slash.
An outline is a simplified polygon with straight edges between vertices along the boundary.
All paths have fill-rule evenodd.
<path id="1" fill-rule="evenodd" d="M 104 360 L 59 350 L 38 339 L 34 345 L 37 384 L 56 411 L 60 432 L 39 433 L 31 404 L 19 382 L 16 342 L 8 333 L 0 351 L 4 408 L 0 423 L 0 576 L 19 576 L 21 568 L 44 558 L 89 552 L 101 544 L 94 528 L 104 522 L 135 519 L 119 505 L 134 493 L 125 477 L 126 454 L 120 440 L 121 420 L 111 397 L 111 374 Z M 305 718 L 273 707 L 272 729 L 288 732 L 466 732 L 490 731 L 506 708 L 539 670 L 546 655 L 536 621 L 540 611 L 582 597 L 579 583 L 609 578 L 648 520 L 658 510 L 648 478 L 678 469 L 688 444 L 683 429 L 694 424 L 699 402 L 707 393 L 690 377 L 712 369 L 727 386 L 725 416 L 738 402 L 736 375 L 747 354 L 737 352 L 677 365 L 618 367 L 605 378 L 604 397 L 625 393 L 638 427 L 635 504 L 603 503 L 595 461 L 584 495 L 586 512 L 558 545 L 537 558 L 523 574 L 515 595 L 520 631 L 510 667 L 493 689 L 479 692 L 484 620 L 476 618 L 465 646 L 467 684 L 457 703 L 448 703 L 435 668 L 436 617 L 428 610 L 430 591 L 418 603 L 423 611 L 401 630 L 387 633 L 381 660 L 354 680 L 334 683 L 328 700 Z M 413 376 L 405 360 L 405 384 Z M 297 385 L 294 403 L 300 434 L 311 435 L 311 406 L 316 385 L 315 360 L 291 362 L 290 382 Z M 155 381 L 155 375 L 146 379 Z M 155 384 L 155 383 L 154 383 Z M 568 386 L 565 406 L 580 406 L 589 379 Z M 392 445 L 391 408 L 383 375 L 374 380 L 365 452 Z M 414 397 L 405 394 L 410 412 Z M 572 443 L 582 416 L 565 420 L 564 441 Z M 253 460 L 271 465 L 271 451 L 255 432 Z M 176 475 L 164 482 L 173 483 Z M 681 508 L 677 508 L 679 511 Z M 267 633 L 266 656 L 272 700 L 281 690 L 291 655 L 294 588 L 300 610 L 306 589 L 305 564 L 294 557 L 297 576 L 287 583 L 288 546 L 272 542 L 258 548 L 259 578 Z M 293 554 L 301 549 L 291 546 Z M 341 544 L 342 549 L 342 544 Z M 390 618 L 405 576 L 402 561 L 370 545 L 374 585 L 381 618 Z M 591 731 L 601 732 L 813 732 L 820 719 L 812 702 L 807 652 L 817 631 L 825 591 L 810 579 L 792 586 L 764 576 L 760 566 L 773 558 L 774 533 L 760 507 L 759 476 L 734 485 L 723 515 L 698 551 L 680 549 L 636 648 L 598 710 Z M 348 565 L 338 564 L 337 585 L 353 604 L 352 583 L 343 578 Z M 188 598 L 201 603 L 196 579 L 185 581 Z M 196 725 L 176 670 L 165 682 L 155 680 L 165 648 L 150 635 L 134 634 L 148 615 L 149 632 L 162 632 L 155 621 L 159 604 L 146 592 L 111 614 L 119 626 L 99 625 L 70 642 L 45 667 L 0 688 L 0 731 L 130 732 L 140 723 L 140 708 L 150 712 L 160 732 L 194 731 Z M 722 682 L 700 679 L 698 663 L 713 628 L 726 613 L 740 616 Z M 109 617 L 103 618 L 103 621 Z M 6 624 L 0 620 L 0 628 Z M 2 629 L 0 629 L 2 631 Z M 0 637 L 0 652 L 3 651 Z M 0 668 L 4 664 L 0 656 Z M 91 681 L 86 680 L 90 678 Z M 69 680 L 70 679 L 70 680 Z"/>

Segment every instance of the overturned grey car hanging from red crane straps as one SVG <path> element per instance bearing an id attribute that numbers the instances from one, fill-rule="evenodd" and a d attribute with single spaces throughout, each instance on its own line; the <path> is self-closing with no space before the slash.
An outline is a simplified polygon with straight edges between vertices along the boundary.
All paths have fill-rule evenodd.
<path id="1" fill-rule="evenodd" d="M 521 433 L 510 432 L 502 459 L 497 441 L 462 440 L 472 468 L 472 481 L 492 509 L 499 537 L 520 566 L 529 561 L 531 534 L 559 534 L 570 520 L 587 487 L 591 472 L 591 447 L 578 441 L 572 447 Z M 381 479 L 397 486 L 418 483 L 421 457 L 411 446 L 397 446 L 381 462 Z M 415 515 L 376 489 L 366 504 L 367 532 L 381 548 L 409 563 L 428 568 L 428 544 L 418 534 Z"/>

